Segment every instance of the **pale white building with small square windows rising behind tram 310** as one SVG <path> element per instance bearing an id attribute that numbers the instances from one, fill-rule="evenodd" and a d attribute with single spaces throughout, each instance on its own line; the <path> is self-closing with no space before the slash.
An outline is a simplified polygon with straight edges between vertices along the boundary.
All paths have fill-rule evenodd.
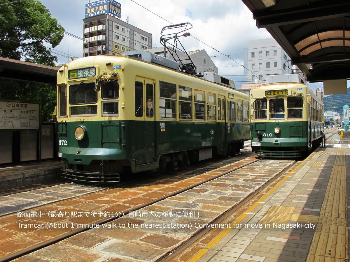
<path id="1" fill-rule="evenodd" d="M 244 75 L 248 83 L 265 83 L 266 75 L 291 74 L 290 57 L 273 38 L 247 42 Z"/>

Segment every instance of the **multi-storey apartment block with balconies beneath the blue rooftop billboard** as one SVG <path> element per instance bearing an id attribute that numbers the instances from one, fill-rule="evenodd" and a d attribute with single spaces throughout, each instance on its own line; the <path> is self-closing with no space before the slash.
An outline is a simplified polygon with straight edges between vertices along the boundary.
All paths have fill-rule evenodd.
<path id="1" fill-rule="evenodd" d="M 152 34 L 109 14 L 83 19 L 83 57 L 152 48 Z"/>

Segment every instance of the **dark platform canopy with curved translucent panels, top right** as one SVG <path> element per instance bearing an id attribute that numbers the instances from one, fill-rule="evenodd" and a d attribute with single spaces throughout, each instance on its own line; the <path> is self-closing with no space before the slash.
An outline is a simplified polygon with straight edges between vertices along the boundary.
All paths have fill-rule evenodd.
<path id="1" fill-rule="evenodd" d="M 350 79 L 350 1 L 242 1 L 308 81 Z"/>

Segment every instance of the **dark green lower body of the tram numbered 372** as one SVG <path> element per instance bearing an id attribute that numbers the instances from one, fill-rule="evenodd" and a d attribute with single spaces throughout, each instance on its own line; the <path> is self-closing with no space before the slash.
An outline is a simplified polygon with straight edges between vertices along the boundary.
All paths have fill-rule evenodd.
<path id="1" fill-rule="evenodd" d="M 84 126 L 77 140 L 74 131 Z M 163 171 L 215 154 L 234 153 L 250 139 L 249 123 L 84 121 L 57 123 L 63 175 L 119 182 L 120 173 Z"/>

